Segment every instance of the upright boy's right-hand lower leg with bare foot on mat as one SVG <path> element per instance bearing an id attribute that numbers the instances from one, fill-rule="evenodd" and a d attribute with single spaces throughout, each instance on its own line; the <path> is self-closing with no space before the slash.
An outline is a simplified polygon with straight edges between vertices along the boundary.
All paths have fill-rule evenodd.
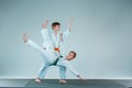
<path id="1" fill-rule="evenodd" d="M 59 74 L 61 74 L 61 79 L 59 82 L 61 84 L 66 84 L 66 67 L 64 66 L 59 66 Z"/>

